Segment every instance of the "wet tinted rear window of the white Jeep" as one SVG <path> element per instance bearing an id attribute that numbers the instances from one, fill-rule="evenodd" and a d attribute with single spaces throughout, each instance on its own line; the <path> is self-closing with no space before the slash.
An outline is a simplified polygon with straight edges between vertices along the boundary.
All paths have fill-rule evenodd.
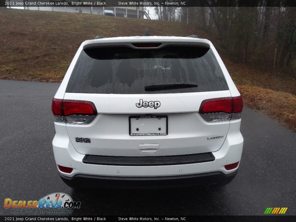
<path id="1" fill-rule="evenodd" d="M 195 86 L 145 90 L 147 86 L 179 84 Z M 151 94 L 219 90 L 228 90 L 228 85 L 211 49 L 170 46 L 82 50 L 66 92 Z"/>

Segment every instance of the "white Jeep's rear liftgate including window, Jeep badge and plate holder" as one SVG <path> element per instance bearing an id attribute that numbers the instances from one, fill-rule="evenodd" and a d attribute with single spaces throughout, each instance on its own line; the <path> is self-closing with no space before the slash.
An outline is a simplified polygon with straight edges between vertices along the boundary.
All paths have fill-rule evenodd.
<path id="1" fill-rule="evenodd" d="M 77 152 L 162 156 L 220 149 L 230 121 L 208 122 L 199 113 L 202 101 L 231 97 L 209 44 L 149 44 L 92 44 L 81 51 L 64 100 L 90 101 L 98 114 L 88 124 L 66 123 Z"/>

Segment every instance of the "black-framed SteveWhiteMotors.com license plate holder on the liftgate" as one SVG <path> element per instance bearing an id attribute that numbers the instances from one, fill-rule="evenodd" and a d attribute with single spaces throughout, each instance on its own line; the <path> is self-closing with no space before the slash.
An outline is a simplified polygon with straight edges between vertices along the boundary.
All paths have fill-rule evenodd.
<path id="1" fill-rule="evenodd" d="M 167 115 L 129 116 L 130 136 L 166 136 L 168 134 Z"/>

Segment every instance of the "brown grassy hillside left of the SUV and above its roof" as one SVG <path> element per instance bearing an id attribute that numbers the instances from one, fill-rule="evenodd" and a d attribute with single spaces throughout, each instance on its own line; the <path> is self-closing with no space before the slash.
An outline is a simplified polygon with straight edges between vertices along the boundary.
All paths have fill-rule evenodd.
<path id="1" fill-rule="evenodd" d="M 61 81 L 80 44 L 96 35 L 143 35 L 147 28 L 150 35 L 204 37 L 180 23 L 51 11 L 6 10 L 0 23 L 0 77 L 22 80 Z"/>

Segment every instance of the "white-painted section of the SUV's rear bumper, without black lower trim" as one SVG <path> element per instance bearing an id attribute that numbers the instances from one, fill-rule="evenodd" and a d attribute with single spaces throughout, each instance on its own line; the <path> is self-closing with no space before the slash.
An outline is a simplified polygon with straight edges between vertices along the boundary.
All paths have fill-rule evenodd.
<path id="1" fill-rule="evenodd" d="M 239 131 L 239 124 L 230 124 L 227 137 L 222 147 L 212 152 L 214 161 L 196 163 L 178 163 L 176 165 L 149 165 L 149 166 L 130 166 L 122 163 L 114 165 L 100 165 L 97 163 L 84 163 L 85 154 L 78 153 L 73 147 L 68 133 L 65 129 L 56 127 L 56 135 L 52 142 L 56 164 L 64 167 L 71 167 L 71 173 L 60 174 L 65 177 L 75 175 L 97 175 L 107 177 L 167 177 L 182 175 L 197 175 L 211 172 L 222 172 L 231 174 L 236 169 L 226 170 L 225 165 L 241 160 L 243 149 L 243 138 Z"/>

